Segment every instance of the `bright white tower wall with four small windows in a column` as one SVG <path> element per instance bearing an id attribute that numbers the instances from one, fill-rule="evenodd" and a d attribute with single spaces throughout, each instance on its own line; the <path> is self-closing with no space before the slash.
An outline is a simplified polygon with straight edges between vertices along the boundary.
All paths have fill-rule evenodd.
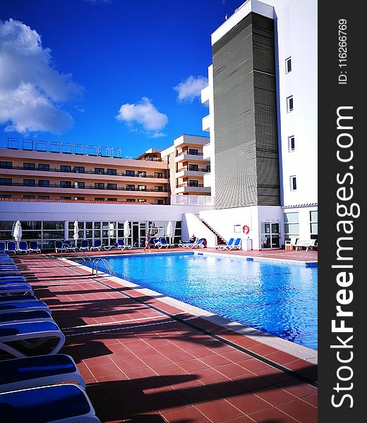
<path id="1" fill-rule="evenodd" d="M 274 6 L 277 42 L 282 204 L 318 202 L 318 9 L 316 0 L 266 0 Z M 291 57 L 292 70 L 285 71 Z M 287 113 L 293 95 L 294 111 Z M 288 137 L 295 137 L 289 152 Z M 290 176 L 297 190 L 291 191 Z"/>

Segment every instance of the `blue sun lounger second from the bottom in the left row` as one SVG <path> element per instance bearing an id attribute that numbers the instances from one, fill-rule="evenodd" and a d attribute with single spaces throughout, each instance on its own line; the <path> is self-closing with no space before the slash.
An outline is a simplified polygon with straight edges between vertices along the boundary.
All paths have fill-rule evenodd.
<path id="1" fill-rule="evenodd" d="M 70 355 L 36 355 L 0 362 L 0 393 L 37 386 L 76 382 L 85 388 L 76 363 Z"/>

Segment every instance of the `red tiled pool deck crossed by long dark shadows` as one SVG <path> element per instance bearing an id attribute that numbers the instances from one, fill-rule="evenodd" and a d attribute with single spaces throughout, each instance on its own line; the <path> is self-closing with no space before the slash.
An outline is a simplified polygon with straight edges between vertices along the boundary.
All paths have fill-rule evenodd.
<path id="1" fill-rule="evenodd" d="M 188 324 L 305 376 L 311 364 L 52 256 L 18 263 L 65 333 L 61 352 L 76 360 L 101 422 L 317 421 L 317 388 Z"/>

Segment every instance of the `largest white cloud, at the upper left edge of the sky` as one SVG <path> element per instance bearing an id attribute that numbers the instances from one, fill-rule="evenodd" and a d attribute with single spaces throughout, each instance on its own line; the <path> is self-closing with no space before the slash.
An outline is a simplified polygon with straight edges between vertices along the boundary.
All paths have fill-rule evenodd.
<path id="1" fill-rule="evenodd" d="M 56 71 L 51 50 L 41 37 L 18 20 L 0 21 L 0 123 L 20 133 L 60 133 L 73 118 L 60 104 L 75 98 L 82 87 L 72 75 Z"/>

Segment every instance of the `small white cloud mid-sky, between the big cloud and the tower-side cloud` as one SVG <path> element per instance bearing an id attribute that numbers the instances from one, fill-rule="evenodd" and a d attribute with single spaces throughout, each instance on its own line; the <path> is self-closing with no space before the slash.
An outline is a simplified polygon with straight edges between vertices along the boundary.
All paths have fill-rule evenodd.
<path id="1" fill-rule="evenodd" d="M 124 121 L 131 130 L 143 128 L 150 137 L 164 136 L 160 130 L 168 123 L 167 115 L 160 113 L 148 97 L 143 97 L 137 104 L 123 104 L 116 119 Z"/>

